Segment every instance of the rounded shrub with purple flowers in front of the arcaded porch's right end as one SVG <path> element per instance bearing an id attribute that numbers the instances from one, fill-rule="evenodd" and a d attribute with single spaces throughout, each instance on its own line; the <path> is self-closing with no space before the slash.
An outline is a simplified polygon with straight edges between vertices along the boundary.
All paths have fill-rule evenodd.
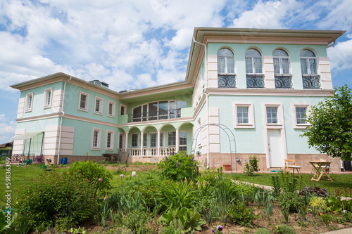
<path id="1" fill-rule="evenodd" d="M 184 179 L 192 181 L 199 175 L 198 162 L 186 152 L 168 155 L 159 162 L 158 169 L 163 176 L 174 181 L 183 181 Z"/>

